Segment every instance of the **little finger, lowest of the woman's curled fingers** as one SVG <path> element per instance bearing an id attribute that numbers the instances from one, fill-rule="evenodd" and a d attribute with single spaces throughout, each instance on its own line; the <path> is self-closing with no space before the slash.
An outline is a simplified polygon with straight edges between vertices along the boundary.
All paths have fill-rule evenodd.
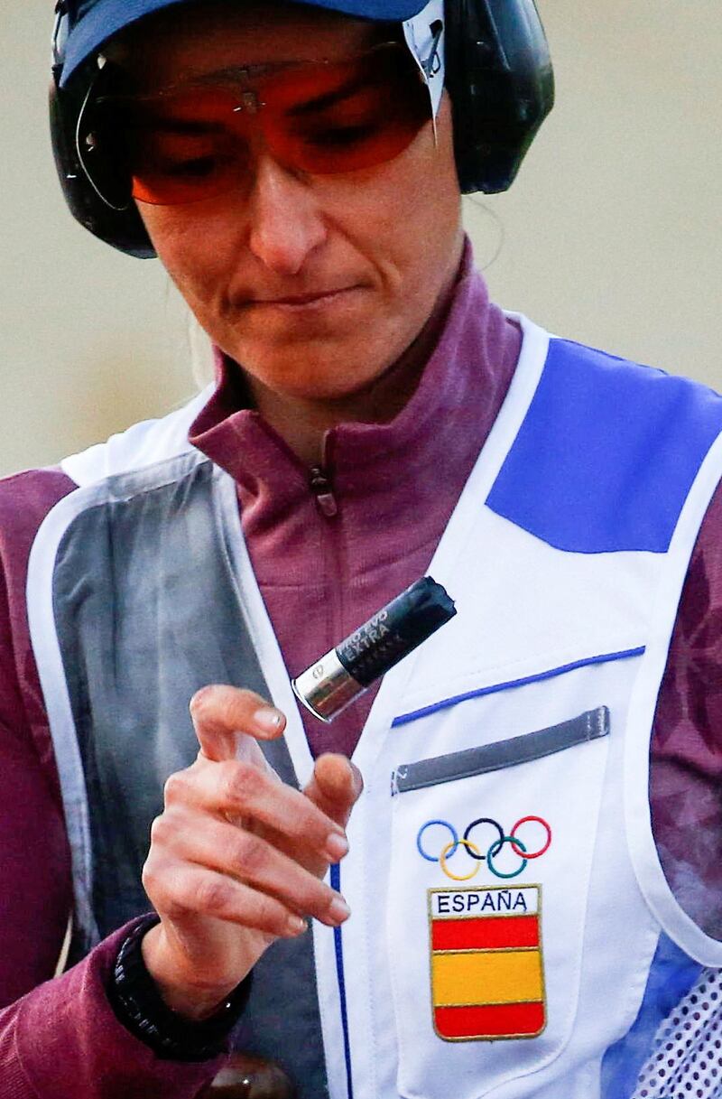
<path id="1" fill-rule="evenodd" d="M 208 867 L 149 857 L 143 885 L 156 911 L 173 923 L 212 917 L 281 939 L 293 939 L 308 926 L 277 898 Z"/>

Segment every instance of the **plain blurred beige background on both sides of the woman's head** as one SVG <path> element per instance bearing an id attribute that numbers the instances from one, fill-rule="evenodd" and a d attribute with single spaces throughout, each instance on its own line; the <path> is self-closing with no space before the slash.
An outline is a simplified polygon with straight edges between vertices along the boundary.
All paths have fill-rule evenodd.
<path id="1" fill-rule="evenodd" d="M 512 191 L 466 219 L 497 300 L 722 389 L 720 0 L 540 0 L 557 107 Z M 66 212 L 47 141 L 52 0 L 2 0 L 0 473 L 193 389 L 159 265 Z"/>

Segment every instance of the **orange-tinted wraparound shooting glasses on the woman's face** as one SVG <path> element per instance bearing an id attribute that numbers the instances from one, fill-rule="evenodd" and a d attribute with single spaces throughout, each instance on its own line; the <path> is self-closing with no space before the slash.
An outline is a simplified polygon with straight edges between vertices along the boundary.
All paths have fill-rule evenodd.
<path id="1" fill-rule="evenodd" d="M 384 43 L 342 62 L 229 69 L 149 96 L 99 97 L 82 159 L 101 195 L 112 163 L 113 191 L 120 173 L 126 199 L 177 206 L 249 187 L 259 152 L 309 175 L 374 167 L 430 119 L 409 51 Z"/>

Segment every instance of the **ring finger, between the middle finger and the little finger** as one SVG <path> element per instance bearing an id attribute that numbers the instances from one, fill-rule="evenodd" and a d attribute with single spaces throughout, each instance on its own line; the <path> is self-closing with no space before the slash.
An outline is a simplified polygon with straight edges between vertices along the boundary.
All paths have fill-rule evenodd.
<path id="1" fill-rule="evenodd" d="M 253 832 L 213 819 L 201 821 L 197 813 L 186 811 L 158 817 L 151 834 L 155 844 L 179 862 L 232 876 L 300 915 L 337 926 L 349 914 L 334 889 Z"/>

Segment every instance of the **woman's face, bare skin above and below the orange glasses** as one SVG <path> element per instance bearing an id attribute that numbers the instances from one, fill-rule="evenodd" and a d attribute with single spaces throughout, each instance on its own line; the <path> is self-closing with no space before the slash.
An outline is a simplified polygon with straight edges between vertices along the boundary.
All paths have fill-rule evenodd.
<path id="1" fill-rule="evenodd" d="M 130 40 L 145 91 L 230 66 L 344 59 L 374 24 L 304 5 L 204 5 Z M 253 378 L 307 400 L 360 392 L 421 332 L 456 273 L 459 193 L 444 99 L 387 163 L 312 175 L 258 144 L 245 184 L 138 202 L 155 248 L 211 338 Z"/>

